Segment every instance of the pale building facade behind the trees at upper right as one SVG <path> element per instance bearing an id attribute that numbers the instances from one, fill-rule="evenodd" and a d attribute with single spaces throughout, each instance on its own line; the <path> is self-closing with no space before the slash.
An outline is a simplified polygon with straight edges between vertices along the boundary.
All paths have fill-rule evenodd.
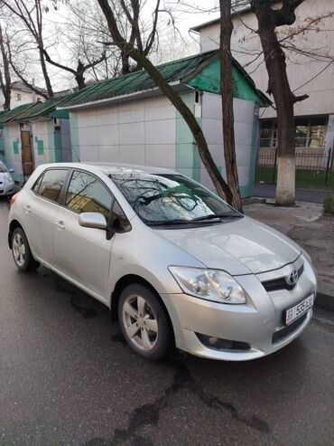
<path id="1" fill-rule="evenodd" d="M 280 7 L 273 2 L 272 7 Z M 233 11 L 234 31 L 232 52 L 263 91 L 268 87 L 268 75 L 257 30 L 255 14 L 249 4 Z M 296 22 L 277 29 L 286 52 L 287 73 L 292 91 L 308 94 L 309 99 L 295 104 L 295 143 L 297 153 L 327 154 L 334 144 L 334 2 L 305 0 L 296 9 Z M 218 20 L 196 26 L 201 51 L 218 48 Z M 277 147 L 276 114 L 274 108 L 260 110 L 262 150 Z"/>

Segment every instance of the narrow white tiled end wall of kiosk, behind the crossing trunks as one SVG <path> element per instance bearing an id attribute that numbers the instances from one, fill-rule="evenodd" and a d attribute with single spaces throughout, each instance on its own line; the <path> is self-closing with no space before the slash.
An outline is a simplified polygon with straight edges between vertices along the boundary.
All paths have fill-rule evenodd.
<path id="1" fill-rule="evenodd" d="M 237 153 L 237 172 L 240 186 L 248 185 L 250 157 L 253 138 L 255 104 L 248 100 L 233 100 L 235 116 L 235 140 Z M 221 98 L 218 95 L 204 93 L 202 99 L 202 128 L 209 144 L 209 150 L 217 166 L 222 167 L 225 175 L 223 152 L 223 131 Z M 201 166 L 200 182 L 212 188 L 212 182 L 205 168 Z"/>

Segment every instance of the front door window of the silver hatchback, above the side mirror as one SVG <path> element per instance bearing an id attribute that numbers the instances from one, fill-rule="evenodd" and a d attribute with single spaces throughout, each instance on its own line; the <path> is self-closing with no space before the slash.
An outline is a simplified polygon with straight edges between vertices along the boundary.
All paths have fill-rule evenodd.
<path id="1" fill-rule="evenodd" d="M 112 200 L 107 187 L 95 176 L 85 172 L 73 172 L 66 195 L 66 206 L 72 211 L 79 214 L 100 213 L 108 219 Z"/>

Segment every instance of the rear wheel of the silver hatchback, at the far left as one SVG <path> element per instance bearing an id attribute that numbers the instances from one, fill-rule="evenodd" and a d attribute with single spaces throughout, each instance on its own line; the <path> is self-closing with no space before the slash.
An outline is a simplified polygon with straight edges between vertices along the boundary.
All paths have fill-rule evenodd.
<path id="1" fill-rule="evenodd" d="M 22 228 L 14 229 L 11 242 L 16 268 L 23 272 L 37 270 L 40 263 L 32 257 L 32 251 Z"/>

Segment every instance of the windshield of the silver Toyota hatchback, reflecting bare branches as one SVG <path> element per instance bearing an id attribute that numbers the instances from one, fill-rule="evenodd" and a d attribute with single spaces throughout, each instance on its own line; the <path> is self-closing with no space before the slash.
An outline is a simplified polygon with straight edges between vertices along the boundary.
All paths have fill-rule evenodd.
<path id="1" fill-rule="evenodd" d="M 110 174 L 135 213 L 146 224 L 212 222 L 241 217 L 217 195 L 177 174 Z"/>

